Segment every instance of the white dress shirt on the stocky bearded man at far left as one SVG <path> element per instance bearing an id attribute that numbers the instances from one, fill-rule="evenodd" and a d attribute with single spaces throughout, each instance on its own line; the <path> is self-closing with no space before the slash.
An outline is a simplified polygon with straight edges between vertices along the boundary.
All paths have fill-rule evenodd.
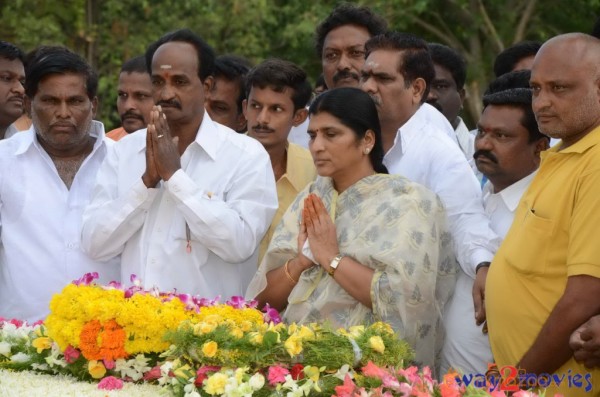
<path id="1" fill-rule="evenodd" d="M 71 189 L 60 179 L 35 131 L 0 142 L 0 316 L 34 322 L 49 313 L 52 294 L 88 272 L 119 281 L 119 260 L 95 261 L 80 248 L 81 220 L 107 145 L 93 121 L 92 152 Z"/>

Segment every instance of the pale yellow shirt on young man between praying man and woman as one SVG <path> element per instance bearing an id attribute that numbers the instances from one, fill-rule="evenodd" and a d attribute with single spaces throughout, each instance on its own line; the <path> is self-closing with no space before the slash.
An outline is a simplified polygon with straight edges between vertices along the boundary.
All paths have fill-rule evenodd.
<path id="1" fill-rule="evenodd" d="M 283 214 L 296 198 L 298 193 L 304 189 L 306 185 L 314 181 L 317 177 L 317 170 L 313 163 L 310 152 L 301 146 L 294 143 L 289 143 L 287 148 L 287 163 L 285 174 L 277 181 L 277 199 L 279 200 L 279 208 L 273 217 L 271 226 L 267 230 L 267 234 L 260 242 L 260 251 L 258 256 L 258 264 L 262 262 L 262 258 L 267 252 L 269 242 L 273 237 L 275 228 L 281 221 Z"/>

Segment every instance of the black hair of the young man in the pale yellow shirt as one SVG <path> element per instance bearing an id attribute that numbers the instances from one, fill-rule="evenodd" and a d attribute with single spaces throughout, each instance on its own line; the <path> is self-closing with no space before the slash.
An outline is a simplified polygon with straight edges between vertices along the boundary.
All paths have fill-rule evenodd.
<path id="1" fill-rule="evenodd" d="M 312 95 L 304 70 L 290 61 L 276 58 L 268 59 L 248 72 L 246 96 L 250 96 L 252 87 L 269 87 L 276 92 L 291 88 L 294 111 L 304 108 Z"/>

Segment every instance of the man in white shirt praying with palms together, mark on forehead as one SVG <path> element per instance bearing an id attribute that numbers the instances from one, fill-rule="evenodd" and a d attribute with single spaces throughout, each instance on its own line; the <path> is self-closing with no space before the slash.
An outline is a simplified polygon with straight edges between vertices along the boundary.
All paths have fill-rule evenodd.
<path id="1" fill-rule="evenodd" d="M 121 255 L 125 280 L 214 298 L 243 295 L 277 209 L 269 156 L 204 109 L 214 52 L 188 29 L 146 51 L 155 106 L 100 169 L 82 244 Z"/>

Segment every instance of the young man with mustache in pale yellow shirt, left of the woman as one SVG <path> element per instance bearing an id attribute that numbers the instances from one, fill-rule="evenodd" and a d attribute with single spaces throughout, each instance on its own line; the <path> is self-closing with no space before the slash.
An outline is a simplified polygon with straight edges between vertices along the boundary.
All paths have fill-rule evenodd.
<path id="1" fill-rule="evenodd" d="M 243 107 L 248 135 L 269 153 L 279 198 L 275 217 L 260 243 L 260 263 L 281 217 L 298 193 L 317 176 L 310 152 L 288 142 L 292 127 L 303 123 L 308 116 L 305 106 L 312 93 L 306 73 L 281 59 L 269 59 L 250 70 L 246 93 L 248 99 Z"/>

